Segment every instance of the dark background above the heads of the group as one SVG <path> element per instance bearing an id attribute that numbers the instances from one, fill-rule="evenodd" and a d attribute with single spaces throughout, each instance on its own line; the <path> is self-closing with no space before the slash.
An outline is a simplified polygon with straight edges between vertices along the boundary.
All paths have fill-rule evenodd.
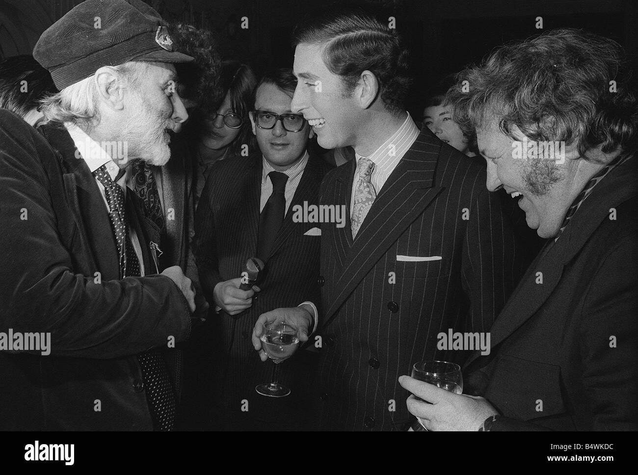
<path id="1" fill-rule="evenodd" d="M 306 0 L 145 1 L 166 20 L 182 20 L 211 29 L 225 59 L 248 62 L 257 73 L 272 66 L 292 66 L 290 33 L 297 21 L 318 5 Z M 0 0 L 0 59 L 31 54 L 40 34 L 79 3 L 81 0 Z M 410 47 L 415 83 L 407 106 L 415 119 L 421 118 L 428 87 L 466 64 L 480 61 L 507 41 L 523 40 L 557 27 L 579 27 L 618 41 L 634 59 L 638 52 L 638 0 L 366 3 L 381 6 L 394 16 L 397 30 Z M 248 17 L 248 29 L 241 28 L 242 17 Z M 537 17 L 542 17 L 542 30 L 536 28 Z"/>

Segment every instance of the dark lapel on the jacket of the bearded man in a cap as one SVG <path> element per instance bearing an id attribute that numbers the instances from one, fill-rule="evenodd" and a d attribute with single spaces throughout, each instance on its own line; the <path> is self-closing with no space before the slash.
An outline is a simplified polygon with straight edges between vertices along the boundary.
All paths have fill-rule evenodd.
<path id="1" fill-rule="evenodd" d="M 61 157 L 64 184 L 68 186 L 67 201 L 76 217 L 78 230 L 87 239 L 95 270 L 100 272 L 103 280 L 119 279 L 117 244 L 106 205 L 89 166 L 62 126 L 46 124 L 40 131 Z"/>

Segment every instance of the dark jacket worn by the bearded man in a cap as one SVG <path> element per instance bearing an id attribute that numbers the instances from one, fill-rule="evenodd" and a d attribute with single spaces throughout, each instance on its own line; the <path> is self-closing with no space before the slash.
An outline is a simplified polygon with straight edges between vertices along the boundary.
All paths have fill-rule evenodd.
<path id="1" fill-rule="evenodd" d="M 119 279 L 93 175 L 66 129 L 43 132 L 52 145 L 0 110 L 0 332 L 51 333 L 49 356 L 0 351 L 0 428 L 151 430 L 135 354 L 188 338 L 188 303 L 163 275 Z M 158 236 L 131 190 L 126 199 L 146 272 L 157 272 Z"/>

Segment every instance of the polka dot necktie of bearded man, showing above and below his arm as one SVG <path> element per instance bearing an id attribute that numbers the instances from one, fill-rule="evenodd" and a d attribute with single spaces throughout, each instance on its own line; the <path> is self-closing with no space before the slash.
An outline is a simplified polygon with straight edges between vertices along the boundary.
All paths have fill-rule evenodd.
<path id="1" fill-rule="evenodd" d="M 131 244 L 126 223 L 124 208 L 124 191 L 115 183 L 107 172 L 106 165 L 102 165 L 93 172 L 96 179 L 104 186 L 110 212 L 108 217 L 115 234 L 117 252 L 120 258 L 121 277 L 139 276 L 140 262 Z M 138 355 L 142 378 L 149 403 L 149 412 L 155 428 L 165 431 L 172 430 L 175 421 L 175 391 L 173 390 L 166 361 L 159 351 L 147 351 Z"/>

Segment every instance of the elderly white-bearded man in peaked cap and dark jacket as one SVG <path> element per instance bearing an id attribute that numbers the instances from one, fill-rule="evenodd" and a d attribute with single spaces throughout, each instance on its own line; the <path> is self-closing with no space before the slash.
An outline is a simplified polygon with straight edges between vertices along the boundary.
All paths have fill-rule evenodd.
<path id="1" fill-rule="evenodd" d="M 192 58 L 139 0 L 79 4 L 34 57 L 60 92 L 40 133 L 0 110 L 0 331 L 51 345 L 0 351 L 0 430 L 172 430 L 195 295 L 125 180 L 170 158 Z"/>

